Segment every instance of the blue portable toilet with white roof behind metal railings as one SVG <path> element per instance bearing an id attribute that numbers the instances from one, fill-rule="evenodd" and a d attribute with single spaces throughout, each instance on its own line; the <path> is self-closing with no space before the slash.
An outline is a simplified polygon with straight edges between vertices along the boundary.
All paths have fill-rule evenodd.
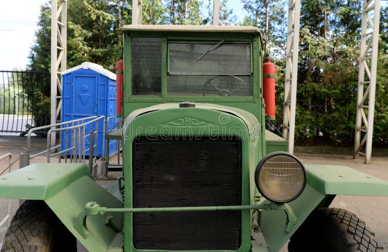
<path id="1" fill-rule="evenodd" d="M 67 69 L 62 72 L 62 122 L 71 121 L 89 116 L 109 116 L 116 115 L 116 75 L 111 71 L 104 69 L 101 65 L 84 62 L 81 65 Z M 110 121 L 110 123 L 113 120 Z M 95 124 L 90 128 L 85 128 L 85 134 L 88 134 Z M 103 135 L 102 120 L 98 122 L 97 135 L 97 156 L 102 157 Z M 112 128 L 110 128 L 112 129 Z M 96 139 L 96 138 L 95 138 Z M 68 139 L 65 139 L 65 133 L 62 135 L 62 150 L 68 148 Z M 89 148 L 90 137 L 85 138 L 85 149 Z M 96 140 L 95 140 L 96 141 Z M 67 143 L 67 144 L 66 144 Z M 109 145 L 109 154 L 113 155 L 116 150 L 115 142 Z M 67 155 L 70 153 L 68 152 Z M 85 153 L 89 155 L 89 151 Z"/>

